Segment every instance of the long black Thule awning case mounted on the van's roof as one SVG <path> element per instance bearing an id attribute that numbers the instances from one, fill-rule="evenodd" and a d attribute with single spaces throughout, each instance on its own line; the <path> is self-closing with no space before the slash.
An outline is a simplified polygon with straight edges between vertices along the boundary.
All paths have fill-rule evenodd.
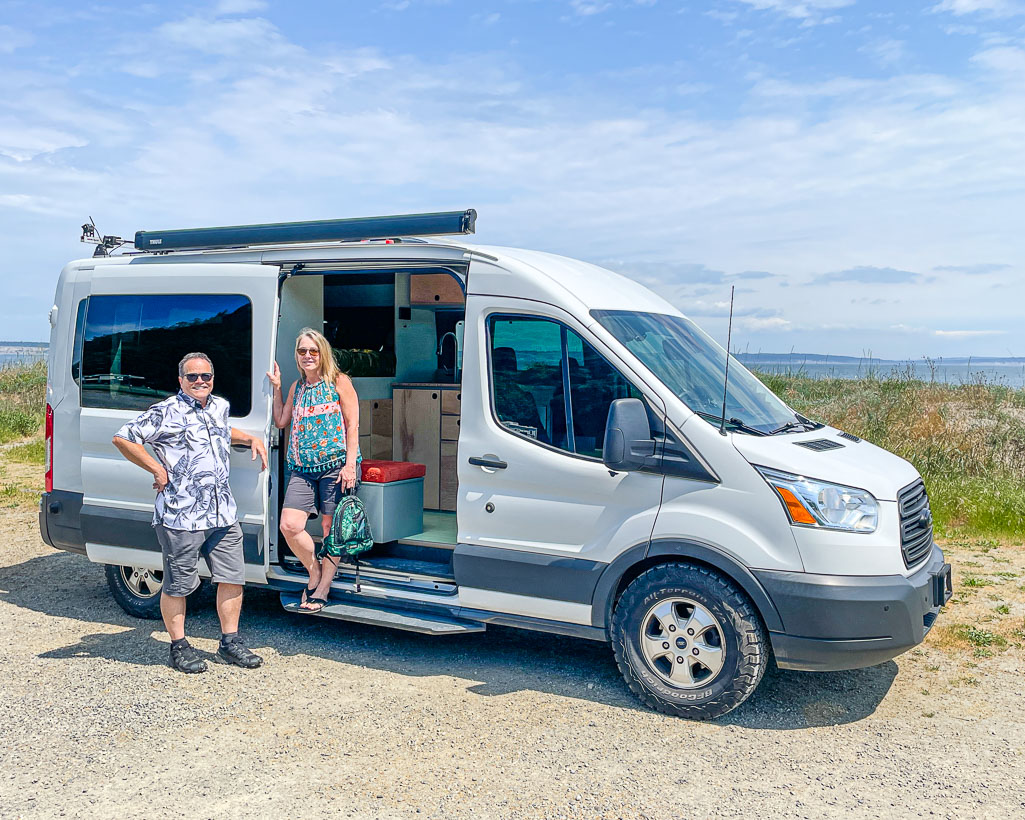
<path id="1" fill-rule="evenodd" d="M 363 216 L 356 219 L 320 219 L 310 222 L 269 222 L 224 228 L 189 228 L 177 231 L 137 231 L 138 250 L 211 250 L 250 245 L 296 245 L 312 242 L 353 242 L 403 237 L 437 237 L 473 234 L 477 211 L 409 213 L 397 216 Z"/>

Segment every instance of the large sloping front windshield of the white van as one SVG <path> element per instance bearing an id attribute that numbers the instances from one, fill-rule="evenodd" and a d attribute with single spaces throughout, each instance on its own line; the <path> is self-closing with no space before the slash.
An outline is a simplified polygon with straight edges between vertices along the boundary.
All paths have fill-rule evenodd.
<path id="1" fill-rule="evenodd" d="M 641 363 L 709 424 L 723 416 L 726 351 L 682 316 L 636 311 L 591 311 Z M 804 421 L 735 358 L 726 397 L 727 427 L 752 435 L 791 428 Z"/>

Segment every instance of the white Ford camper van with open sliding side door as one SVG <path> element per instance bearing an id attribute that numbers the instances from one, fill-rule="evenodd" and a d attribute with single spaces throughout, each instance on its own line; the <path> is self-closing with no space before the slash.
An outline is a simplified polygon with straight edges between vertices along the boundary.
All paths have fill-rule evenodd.
<path id="1" fill-rule="evenodd" d="M 379 541 L 317 617 L 612 644 L 649 706 L 714 717 L 782 668 L 880 663 L 950 596 L 921 478 L 805 418 L 675 306 L 593 264 L 433 239 L 474 211 L 104 238 L 50 312 L 43 539 L 158 615 L 150 481 L 111 439 L 208 354 L 232 423 L 247 583 L 294 602 L 265 371 L 324 327 L 361 399 Z M 395 464 L 400 462 L 398 470 Z M 402 467 L 412 467 L 402 469 Z M 416 465 L 422 465 L 418 467 Z M 311 532 L 319 530 L 311 523 Z M 357 576 L 357 569 L 359 576 Z M 303 617 L 314 617 L 306 615 Z"/>

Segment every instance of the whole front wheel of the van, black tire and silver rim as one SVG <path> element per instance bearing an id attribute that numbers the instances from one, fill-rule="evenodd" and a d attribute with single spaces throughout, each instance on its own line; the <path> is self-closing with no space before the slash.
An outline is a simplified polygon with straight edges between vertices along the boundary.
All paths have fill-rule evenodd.
<path id="1" fill-rule="evenodd" d="M 619 671 L 644 703 L 702 721 L 747 700 L 769 660 L 747 596 L 692 564 L 661 564 L 631 581 L 612 616 L 612 642 Z"/>

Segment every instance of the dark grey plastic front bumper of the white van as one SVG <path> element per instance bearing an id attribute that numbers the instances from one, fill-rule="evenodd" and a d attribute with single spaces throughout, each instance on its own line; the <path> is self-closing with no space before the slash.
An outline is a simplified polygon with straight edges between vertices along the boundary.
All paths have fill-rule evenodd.
<path id="1" fill-rule="evenodd" d="M 770 632 L 784 669 L 835 671 L 873 666 L 920 644 L 950 598 L 950 567 L 933 545 L 903 575 L 813 575 L 753 570 L 783 621 Z"/>

